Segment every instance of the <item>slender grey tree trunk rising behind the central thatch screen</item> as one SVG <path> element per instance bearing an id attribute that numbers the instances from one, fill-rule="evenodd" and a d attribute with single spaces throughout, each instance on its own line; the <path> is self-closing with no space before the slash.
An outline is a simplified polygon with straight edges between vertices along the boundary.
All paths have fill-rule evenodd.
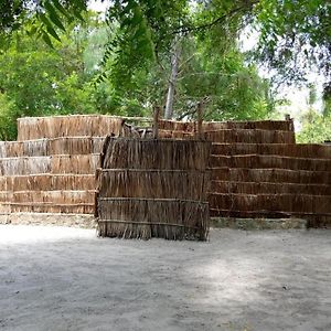
<path id="1" fill-rule="evenodd" d="M 167 103 L 164 110 L 164 118 L 171 119 L 173 115 L 173 98 L 174 98 L 174 89 L 178 76 L 178 66 L 180 60 L 180 46 L 179 42 L 175 42 L 173 47 L 173 54 L 171 57 L 171 75 L 169 79 L 168 94 L 167 94 Z"/>

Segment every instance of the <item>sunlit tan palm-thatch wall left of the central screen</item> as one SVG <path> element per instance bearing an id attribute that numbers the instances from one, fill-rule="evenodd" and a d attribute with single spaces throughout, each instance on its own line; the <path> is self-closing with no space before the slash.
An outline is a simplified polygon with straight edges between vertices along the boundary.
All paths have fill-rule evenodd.
<path id="1" fill-rule="evenodd" d="M 19 141 L 0 142 L 0 212 L 93 214 L 104 137 L 121 127 L 111 116 L 20 118 Z"/>

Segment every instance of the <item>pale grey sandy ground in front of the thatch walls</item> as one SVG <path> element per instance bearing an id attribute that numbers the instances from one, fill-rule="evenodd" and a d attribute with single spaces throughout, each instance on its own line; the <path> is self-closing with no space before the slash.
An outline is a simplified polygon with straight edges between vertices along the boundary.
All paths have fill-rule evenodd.
<path id="1" fill-rule="evenodd" d="M 0 225 L 2 330 L 331 330 L 331 231 L 207 243 Z"/>

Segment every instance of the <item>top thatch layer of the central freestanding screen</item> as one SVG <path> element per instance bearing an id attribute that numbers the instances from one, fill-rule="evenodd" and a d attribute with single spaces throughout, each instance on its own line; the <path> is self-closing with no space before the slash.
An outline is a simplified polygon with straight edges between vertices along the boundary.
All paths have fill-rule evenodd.
<path id="1" fill-rule="evenodd" d="M 183 169 L 207 167 L 211 143 L 196 140 L 109 139 L 104 149 L 104 169 Z"/>

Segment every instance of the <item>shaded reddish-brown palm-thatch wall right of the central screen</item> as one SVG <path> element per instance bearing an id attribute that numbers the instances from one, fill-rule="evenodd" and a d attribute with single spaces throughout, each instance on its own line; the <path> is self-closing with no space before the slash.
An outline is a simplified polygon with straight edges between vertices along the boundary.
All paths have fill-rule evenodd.
<path id="1" fill-rule="evenodd" d="M 193 137 L 193 124 L 163 121 L 166 137 Z M 205 122 L 211 214 L 229 217 L 307 218 L 331 226 L 331 146 L 297 145 L 293 124 Z"/>

